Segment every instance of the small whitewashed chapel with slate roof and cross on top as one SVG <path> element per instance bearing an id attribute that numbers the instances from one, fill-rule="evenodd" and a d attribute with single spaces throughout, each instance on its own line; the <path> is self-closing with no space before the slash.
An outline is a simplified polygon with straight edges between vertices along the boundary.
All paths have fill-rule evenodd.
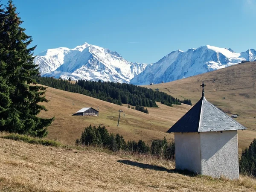
<path id="1" fill-rule="evenodd" d="M 204 97 L 167 132 L 175 133 L 176 169 L 239 179 L 237 131 L 246 129 Z"/>

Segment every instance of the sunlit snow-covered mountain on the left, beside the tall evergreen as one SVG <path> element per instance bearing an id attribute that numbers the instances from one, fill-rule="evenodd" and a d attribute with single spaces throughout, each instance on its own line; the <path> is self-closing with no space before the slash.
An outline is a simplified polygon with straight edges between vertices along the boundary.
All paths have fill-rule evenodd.
<path id="1" fill-rule="evenodd" d="M 74 49 L 48 49 L 35 57 L 42 76 L 128 83 L 147 64 L 126 61 L 117 52 L 85 43 Z"/>

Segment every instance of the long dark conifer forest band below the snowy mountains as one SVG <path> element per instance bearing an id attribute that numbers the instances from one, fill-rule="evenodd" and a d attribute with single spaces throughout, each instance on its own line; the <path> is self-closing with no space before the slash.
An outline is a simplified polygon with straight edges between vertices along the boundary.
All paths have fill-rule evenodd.
<path id="1" fill-rule="evenodd" d="M 96 99 L 111 102 L 117 105 L 129 104 L 143 107 L 157 107 L 156 102 L 162 102 L 165 105 L 181 105 L 181 103 L 191 104 L 190 100 L 179 100 L 160 91 L 154 91 L 145 87 L 138 87 L 133 84 L 85 81 L 79 80 L 75 84 L 62 79 L 52 77 L 35 76 L 39 84 L 49 87 L 80 93 Z"/>

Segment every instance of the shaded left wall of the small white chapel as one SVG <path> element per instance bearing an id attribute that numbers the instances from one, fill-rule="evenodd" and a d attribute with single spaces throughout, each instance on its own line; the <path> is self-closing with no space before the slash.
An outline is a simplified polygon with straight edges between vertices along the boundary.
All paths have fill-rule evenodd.
<path id="1" fill-rule="evenodd" d="M 201 173 L 200 134 L 175 133 L 176 169 Z"/>

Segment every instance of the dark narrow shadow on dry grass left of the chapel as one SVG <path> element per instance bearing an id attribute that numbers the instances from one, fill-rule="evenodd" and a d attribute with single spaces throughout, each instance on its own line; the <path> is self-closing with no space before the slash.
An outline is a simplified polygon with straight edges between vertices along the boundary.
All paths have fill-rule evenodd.
<path id="1" fill-rule="evenodd" d="M 117 160 L 117 162 L 119 163 L 123 163 L 126 165 L 131 165 L 131 166 L 136 166 L 142 169 L 152 169 L 155 171 L 163 171 L 163 172 L 168 172 L 168 173 L 179 173 L 182 175 L 188 175 L 190 177 L 196 177 L 198 176 L 198 174 L 194 173 L 194 172 L 190 172 L 189 170 L 178 170 L 178 169 L 166 169 L 164 167 L 161 166 L 155 166 L 155 165 L 150 165 L 150 164 L 146 164 L 146 163 L 138 163 L 135 161 L 131 161 L 131 160 Z"/>

